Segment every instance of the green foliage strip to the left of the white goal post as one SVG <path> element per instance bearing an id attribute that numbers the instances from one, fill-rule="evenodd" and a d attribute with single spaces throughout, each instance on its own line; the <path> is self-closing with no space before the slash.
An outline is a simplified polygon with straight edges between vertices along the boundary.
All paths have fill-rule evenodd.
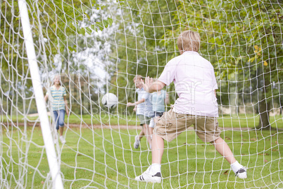
<path id="1" fill-rule="evenodd" d="M 1 1 L 0 14 L 0 112 L 13 114 L 25 112 L 25 104 L 30 104 L 33 93 L 30 72 L 23 44 L 18 1 Z M 30 111 L 34 111 L 30 108 Z M 16 114 L 13 114 L 16 115 Z"/>

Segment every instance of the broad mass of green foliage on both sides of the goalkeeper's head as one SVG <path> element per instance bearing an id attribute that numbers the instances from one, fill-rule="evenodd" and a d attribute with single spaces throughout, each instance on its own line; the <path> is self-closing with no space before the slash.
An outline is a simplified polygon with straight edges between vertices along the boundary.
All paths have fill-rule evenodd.
<path id="1" fill-rule="evenodd" d="M 118 86 L 113 91 L 124 94 L 136 74 L 158 78 L 165 64 L 179 55 L 178 35 L 194 30 L 201 35 L 199 53 L 215 68 L 219 103 L 229 105 L 230 94 L 236 92 L 238 105 L 266 98 L 277 108 L 282 87 L 282 16 L 282 6 L 268 1 L 129 3 L 115 38 L 118 49 L 113 47 L 117 51 L 113 72 L 122 75 L 113 75 L 111 83 Z M 173 90 L 172 86 L 168 89 Z M 170 96 L 173 102 L 175 95 Z"/>

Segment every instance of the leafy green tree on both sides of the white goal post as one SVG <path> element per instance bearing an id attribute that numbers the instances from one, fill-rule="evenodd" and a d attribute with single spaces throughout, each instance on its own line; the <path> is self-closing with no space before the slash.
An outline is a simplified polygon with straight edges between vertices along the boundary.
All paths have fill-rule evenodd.
<path id="1" fill-rule="evenodd" d="M 7 96 L 8 107 L 16 104 L 19 112 L 34 111 L 32 81 L 26 59 L 18 1 L 1 1 L 1 96 Z M 37 61 L 42 75 L 49 71 L 86 73 L 82 59 L 77 59 L 84 49 L 94 49 L 94 33 L 108 28 L 112 19 L 106 17 L 103 2 L 90 1 L 28 1 Z M 102 41 L 102 40 L 101 40 Z M 102 45 L 101 45 L 102 44 Z M 103 42 L 101 42 L 103 46 Z M 103 48 L 101 48 L 103 49 Z M 92 52 L 93 53 L 93 52 Z M 51 73 L 52 74 L 52 73 Z M 47 77 L 48 78 L 48 77 Z M 7 89 L 7 90 L 5 90 Z M 8 92 L 8 93 L 7 93 Z M 11 93 L 12 92 L 12 93 Z M 28 106 L 25 106 L 29 104 Z M 4 108 L 1 104 L 2 109 Z M 11 112 L 11 111 L 6 111 Z M 8 113 L 10 114 L 10 113 Z"/>

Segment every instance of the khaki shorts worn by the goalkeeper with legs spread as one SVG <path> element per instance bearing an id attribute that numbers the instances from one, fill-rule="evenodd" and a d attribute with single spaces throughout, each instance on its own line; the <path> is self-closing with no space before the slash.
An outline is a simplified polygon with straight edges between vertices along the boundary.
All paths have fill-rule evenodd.
<path id="1" fill-rule="evenodd" d="M 158 120 L 153 133 L 170 142 L 191 125 L 203 142 L 213 142 L 220 137 L 217 118 L 177 114 L 172 109 Z"/>

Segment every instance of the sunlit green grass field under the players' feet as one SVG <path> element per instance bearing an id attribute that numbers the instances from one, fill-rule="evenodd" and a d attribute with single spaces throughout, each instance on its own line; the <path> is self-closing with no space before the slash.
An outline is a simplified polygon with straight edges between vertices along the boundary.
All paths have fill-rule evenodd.
<path id="1" fill-rule="evenodd" d="M 87 122 L 87 118 L 83 120 Z M 237 120 L 241 127 L 254 127 L 257 123 L 251 121 L 249 126 L 249 118 L 219 119 L 220 126 L 228 128 L 236 127 Z M 114 122 L 115 118 L 111 118 L 110 123 Z M 282 118 L 275 117 L 272 127 L 276 126 L 283 128 Z M 39 127 L 26 129 L 27 135 L 24 135 L 24 127 L 10 126 L 8 130 L 2 127 L 3 187 L 8 183 L 8 188 L 15 188 L 20 181 L 24 188 L 50 185 L 42 132 Z M 248 168 L 245 180 L 237 179 L 229 171 L 229 164 L 215 152 L 213 145 L 201 142 L 194 131 L 188 130 L 177 140 L 165 142 L 163 182 L 153 185 L 134 181 L 134 177 L 151 163 L 151 152 L 145 139 L 139 149 L 132 147 L 139 129 L 68 128 L 65 132 L 67 143 L 58 146 L 64 188 L 283 188 L 282 130 L 222 132 L 222 138 L 232 148 L 237 160 Z"/>

